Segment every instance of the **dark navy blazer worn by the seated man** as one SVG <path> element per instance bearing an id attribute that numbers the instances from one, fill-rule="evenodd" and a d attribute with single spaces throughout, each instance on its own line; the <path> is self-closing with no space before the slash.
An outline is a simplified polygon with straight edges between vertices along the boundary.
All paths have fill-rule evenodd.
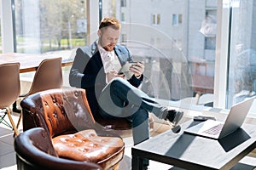
<path id="1" fill-rule="evenodd" d="M 125 65 L 126 61 L 132 61 L 131 54 L 125 46 L 116 45 L 114 52 L 118 56 L 121 65 Z M 135 76 L 128 80 L 134 87 L 138 87 L 142 81 L 143 77 L 137 79 Z M 99 105 L 97 98 L 107 83 L 97 42 L 77 49 L 73 66 L 69 73 L 69 83 L 72 87 L 84 88 L 86 90 L 92 114 L 98 116 Z"/>

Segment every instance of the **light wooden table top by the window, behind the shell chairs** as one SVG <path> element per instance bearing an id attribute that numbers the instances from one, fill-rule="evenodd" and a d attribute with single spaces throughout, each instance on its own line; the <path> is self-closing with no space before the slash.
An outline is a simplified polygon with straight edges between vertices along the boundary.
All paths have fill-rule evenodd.
<path id="1" fill-rule="evenodd" d="M 44 59 L 52 59 L 58 58 L 61 56 L 52 56 L 52 55 L 44 55 L 44 54 L 20 54 L 20 53 L 5 53 L 0 54 L 0 64 L 4 63 L 20 63 L 20 73 L 36 71 L 38 65 Z M 73 59 L 64 59 L 62 58 L 62 66 L 72 65 Z"/>

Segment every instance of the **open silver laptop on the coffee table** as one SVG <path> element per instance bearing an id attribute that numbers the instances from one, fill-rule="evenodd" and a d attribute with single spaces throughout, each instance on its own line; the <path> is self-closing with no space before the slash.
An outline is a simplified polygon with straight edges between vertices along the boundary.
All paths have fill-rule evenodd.
<path id="1" fill-rule="evenodd" d="M 225 122 L 218 122 L 214 120 L 207 120 L 201 122 L 193 127 L 184 130 L 185 133 L 192 133 L 211 139 L 222 139 L 230 133 L 235 132 L 241 127 L 244 122 L 248 111 L 253 105 L 253 98 L 246 99 L 230 109 Z"/>

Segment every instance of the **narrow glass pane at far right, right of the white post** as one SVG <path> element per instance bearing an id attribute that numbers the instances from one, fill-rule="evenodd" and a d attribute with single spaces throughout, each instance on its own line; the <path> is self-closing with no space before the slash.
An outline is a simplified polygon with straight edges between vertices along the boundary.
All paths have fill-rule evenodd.
<path id="1" fill-rule="evenodd" d="M 256 92 L 256 2 L 231 3 L 228 107 Z"/>

